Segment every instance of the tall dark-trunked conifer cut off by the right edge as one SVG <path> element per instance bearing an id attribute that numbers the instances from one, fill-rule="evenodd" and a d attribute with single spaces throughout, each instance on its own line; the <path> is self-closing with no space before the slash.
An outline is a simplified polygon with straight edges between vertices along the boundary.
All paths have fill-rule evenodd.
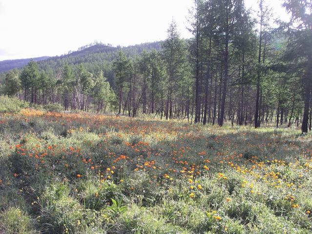
<path id="1" fill-rule="evenodd" d="M 286 31 L 289 40 L 285 58 L 300 77 L 304 100 L 301 130 L 307 133 L 312 90 L 312 1 L 285 0 L 283 6 L 291 14 Z"/>

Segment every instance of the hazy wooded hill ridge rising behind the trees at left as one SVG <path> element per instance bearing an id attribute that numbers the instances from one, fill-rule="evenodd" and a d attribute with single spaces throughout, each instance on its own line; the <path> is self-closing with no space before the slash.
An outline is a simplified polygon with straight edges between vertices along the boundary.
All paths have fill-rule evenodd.
<path id="1" fill-rule="evenodd" d="M 78 70 L 80 64 L 91 73 L 104 71 L 106 78 L 112 82 L 113 71 L 111 64 L 117 58 L 118 50 L 123 50 L 128 57 L 140 55 L 143 50 L 160 50 L 161 42 L 142 43 L 130 46 L 114 47 L 110 44 L 93 43 L 82 46 L 77 51 L 69 51 L 67 54 L 55 57 L 40 57 L 33 60 L 38 62 L 39 68 L 45 71 L 52 70 L 57 75 L 62 72 L 64 64 L 70 64 L 74 71 Z M 21 68 L 29 62 L 30 59 L 7 60 L 0 62 L 0 84 L 3 83 L 5 73 L 14 68 Z"/>

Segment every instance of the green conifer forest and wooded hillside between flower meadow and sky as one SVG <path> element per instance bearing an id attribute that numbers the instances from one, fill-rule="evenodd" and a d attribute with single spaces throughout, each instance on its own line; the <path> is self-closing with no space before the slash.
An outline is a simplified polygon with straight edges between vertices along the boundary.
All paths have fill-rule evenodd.
<path id="1" fill-rule="evenodd" d="M 311 130 L 312 3 L 285 0 L 289 22 L 254 19 L 243 0 L 195 0 L 191 39 L 171 22 L 160 43 L 94 43 L 5 73 L 1 93 L 64 110 L 151 114 L 223 126 Z M 274 26 L 276 25 L 276 26 Z"/>

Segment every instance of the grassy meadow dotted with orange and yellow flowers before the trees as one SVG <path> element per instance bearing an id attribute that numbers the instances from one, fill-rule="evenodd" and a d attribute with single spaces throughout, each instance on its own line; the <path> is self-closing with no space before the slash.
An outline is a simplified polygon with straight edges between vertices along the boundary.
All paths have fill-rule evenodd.
<path id="1" fill-rule="evenodd" d="M 0 233 L 311 234 L 312 135 L 0 115 Z"/>

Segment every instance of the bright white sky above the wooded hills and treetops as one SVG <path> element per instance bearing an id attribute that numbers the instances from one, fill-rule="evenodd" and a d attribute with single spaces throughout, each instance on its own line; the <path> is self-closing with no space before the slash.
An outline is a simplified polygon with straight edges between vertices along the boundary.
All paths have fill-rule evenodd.
<path id="1" fill-rule="evenodd" d="M 282 0 L 267 0 L 285 19 Z M 257 0 L 245 0 L 257 9 Z M 181 36 L 193 0 L 0 0 L 0 61 L 61 55 L 94 41 L 113 45 L 166 38 L 172 18 Z"/>

